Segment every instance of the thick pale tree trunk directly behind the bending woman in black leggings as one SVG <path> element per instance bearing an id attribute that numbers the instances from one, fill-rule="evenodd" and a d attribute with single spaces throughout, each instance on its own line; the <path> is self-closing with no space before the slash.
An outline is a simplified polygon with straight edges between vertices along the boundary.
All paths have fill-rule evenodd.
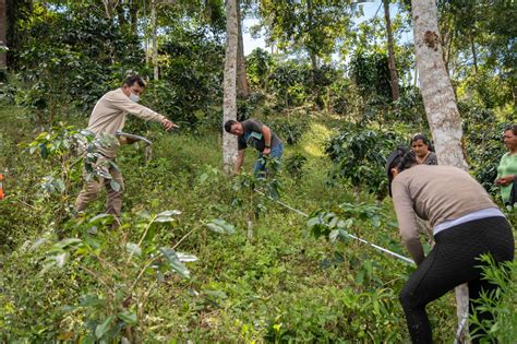
<path id="1" fill-rule="evenodd" d="M 411 0 L 420 91 L 441 165 L 468 169 L 461 146 L 461 122 L 442 56 L 435 0 Z M 458 329 L 468 316 L 467 285 L 456 287 Z M 468 325 L 462 328 L 462 332 Z"/>

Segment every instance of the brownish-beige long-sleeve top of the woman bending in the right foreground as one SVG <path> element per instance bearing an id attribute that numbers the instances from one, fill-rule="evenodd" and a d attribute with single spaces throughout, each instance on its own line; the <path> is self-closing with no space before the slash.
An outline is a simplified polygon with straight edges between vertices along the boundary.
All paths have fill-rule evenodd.
<path id="1" fill-rule="evenodd" d="M 469 213 L 496 207 L 483 187 L 468 173 L 452 166 L 417 165 L 392 183 L 393 202 L 404 245 L 420 264 L 423 249 L 416 216 L 435 225 Z"/>

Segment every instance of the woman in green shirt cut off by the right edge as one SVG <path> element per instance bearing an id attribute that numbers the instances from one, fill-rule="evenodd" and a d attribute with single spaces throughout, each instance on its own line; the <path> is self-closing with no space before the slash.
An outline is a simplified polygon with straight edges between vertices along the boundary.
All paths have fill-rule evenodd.
<path id="1" fill-rule="evenodd" d="M 517 124 L 513 124 L 505 129 L 503 141 L 508 149 L 501 158 L 500 166 L 497 166 L 497 178 L 495 183 L 501 187 L 501 197 L 505 205 L 513 206 L 510 203 L 512 188 L 517 176 Z"/>

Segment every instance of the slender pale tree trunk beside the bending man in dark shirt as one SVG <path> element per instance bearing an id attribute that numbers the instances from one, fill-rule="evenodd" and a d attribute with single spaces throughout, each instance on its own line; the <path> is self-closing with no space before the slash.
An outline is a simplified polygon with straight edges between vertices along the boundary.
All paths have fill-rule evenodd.
<path id="1" fill-rule="evenodd" d="M 237 50 L 238 29 L 237 0 L 226 1 L 226 56 L 225 56 L 225 80 L 223 123 L 227 120 L 237 120 Z M 236 137 L 223 131 L 223 165 L 226 171 L 231 171 L 237 158 Z"/>

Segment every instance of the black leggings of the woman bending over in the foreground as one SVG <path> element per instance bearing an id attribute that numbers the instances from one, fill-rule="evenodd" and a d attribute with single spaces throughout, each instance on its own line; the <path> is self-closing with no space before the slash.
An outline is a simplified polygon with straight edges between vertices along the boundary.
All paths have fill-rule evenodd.
<path id="1" fill-rule="evenodd" d="M 431 324 L 425 313 L 425 306 L 432 300 L 468 283 L 472 315 L 473 301 L 479 298 L 481 289 L 489 292 L 496 288 L 481 278 L 481 269 L 477 268 L 481 262 L 477 258 L 491 253 L 498 263 L 514 260 L 512 227 L 502 216 L 450 227 L 435 235 L 434 239 L 436 245 L 399 295 L 413 343 L 432 343 Z M 492 319 L 488 312 L 478 313 L 478 317 Z"/>

